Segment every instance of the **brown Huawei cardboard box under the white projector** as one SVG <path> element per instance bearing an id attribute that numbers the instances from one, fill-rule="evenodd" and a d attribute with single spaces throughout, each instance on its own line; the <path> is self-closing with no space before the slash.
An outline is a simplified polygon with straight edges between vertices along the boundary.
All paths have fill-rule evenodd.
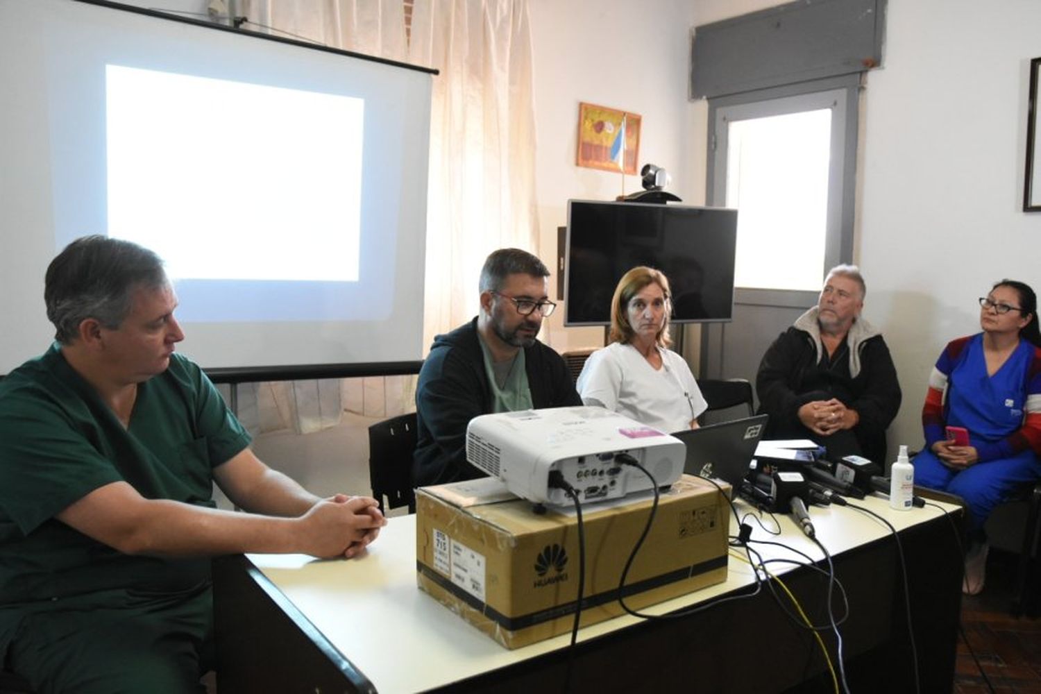
<path id="1" fill-rule="evenodd" d="M 725 485 L 729 492 L 729 488 Z M 420 588 L 503 644 L 516 648 L 569 632 L 578 599 L 574 508 L 548 509 L 494 480 L 418 489 Z M 586 505 L 586 576 L 581 624 L 624 613 L 618 581 L 646 524 L 650 492 L 637 500 Z M 727 579 L 730 508 L 711 483 L 690 475 L 661 493 L 654 525 L 626 580 L 640 609 Z"/>

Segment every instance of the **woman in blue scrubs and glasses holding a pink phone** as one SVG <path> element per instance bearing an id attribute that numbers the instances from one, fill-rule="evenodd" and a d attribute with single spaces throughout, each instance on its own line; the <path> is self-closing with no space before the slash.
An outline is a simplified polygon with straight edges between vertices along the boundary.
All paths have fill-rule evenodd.
<path id="1" fill-rule="evenodd" d="M 983 590 L 990 512 L 1021 484 L 1041 478 L 1041 333 L 1037 297 L 1001 280 L 980 299 L 983 332 L 947 344 L 929 378 L 922 409 L 925 449 L 914 460 L 915 483 L 965 499 L 972 545 L 963 592 Z M 948 439 L 948 428 L 968 442 Z M 950 432 L 953 435 L 953 432 Z"/>

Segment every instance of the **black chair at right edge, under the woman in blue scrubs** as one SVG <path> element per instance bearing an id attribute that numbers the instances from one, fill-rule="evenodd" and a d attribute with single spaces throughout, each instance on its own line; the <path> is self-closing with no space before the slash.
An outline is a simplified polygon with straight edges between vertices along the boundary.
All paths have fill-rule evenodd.
<path id="1" fill-rule="evenodd" d="M 987 518 L 987 541 L 992 547 L 1017 552 L 1016 583 L 1009 612 L 1035 616 L 1037 595 L 1031 594 L 1038 538 L 1041 536 L 1041 483 L 1023 485 L 1010 499 L 998 504 Z"/>

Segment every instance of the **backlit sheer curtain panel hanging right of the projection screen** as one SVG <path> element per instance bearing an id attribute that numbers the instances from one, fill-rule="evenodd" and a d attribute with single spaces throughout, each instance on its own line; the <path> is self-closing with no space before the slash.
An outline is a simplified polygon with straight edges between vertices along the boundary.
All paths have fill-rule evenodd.
<path id="1" fill-rule="evenodd" d="M 538 255 L 527 0 L 415 0 L 409 62 L 436 68 L 425 340 L 468 320 L 491 251 Z"/>

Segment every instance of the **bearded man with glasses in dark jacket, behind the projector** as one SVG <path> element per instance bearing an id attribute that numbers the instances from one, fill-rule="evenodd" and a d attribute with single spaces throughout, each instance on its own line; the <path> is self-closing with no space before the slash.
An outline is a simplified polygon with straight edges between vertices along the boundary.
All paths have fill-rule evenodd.
<path id="1" fill-rule="evenodd" d="M 481 310 L 434 338 L 415 391 L 416 487 L 478 478 L 466 462 L 466 425 L 493 412 L 582 405 L 564 360 L 537 339 L 550 271 L 518 249 L 500 249 L 481 269 Z"/>

